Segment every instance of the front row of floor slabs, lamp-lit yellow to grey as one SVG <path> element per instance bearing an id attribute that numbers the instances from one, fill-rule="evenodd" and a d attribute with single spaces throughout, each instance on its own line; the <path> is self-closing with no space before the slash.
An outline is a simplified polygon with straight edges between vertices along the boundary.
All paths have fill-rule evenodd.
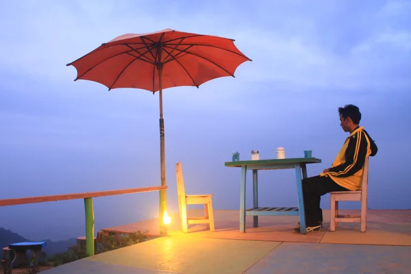
<path id="1" fill-rule="evenodd" d="M 112 273 L 410 273 L 411 247 L 171 236 L 43 271 Z"/>

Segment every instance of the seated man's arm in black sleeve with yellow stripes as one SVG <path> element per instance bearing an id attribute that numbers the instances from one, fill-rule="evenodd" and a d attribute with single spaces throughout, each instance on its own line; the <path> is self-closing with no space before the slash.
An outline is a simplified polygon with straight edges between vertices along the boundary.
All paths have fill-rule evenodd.
<path id="1" fill-rule="evenodd" d="M 347 150 L 345 151 L 345 163 L 325 170 L 325 174 L 336 177 L 349 177 L 354 175 L 364 166 L 366 147 L 368 142 L 364 132 L 357 132 L 349 138 Z"/>

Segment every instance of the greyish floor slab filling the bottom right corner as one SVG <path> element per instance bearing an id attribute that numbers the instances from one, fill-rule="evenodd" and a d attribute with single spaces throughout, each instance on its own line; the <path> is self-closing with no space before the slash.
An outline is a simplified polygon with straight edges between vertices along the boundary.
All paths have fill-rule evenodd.
<path id="1" fill-rule="evenodd" d="M 411 247 L 284 242 L 245 273 L 411 273 Z"/>

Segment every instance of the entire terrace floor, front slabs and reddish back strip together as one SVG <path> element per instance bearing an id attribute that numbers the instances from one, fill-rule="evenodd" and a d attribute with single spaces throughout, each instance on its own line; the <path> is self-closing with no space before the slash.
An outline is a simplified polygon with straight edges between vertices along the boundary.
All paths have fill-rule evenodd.
<path id="1" fill-rule="evenodd" d="M 296 217 L 265 217 L 260 227 L 252 228 L 250 222 L 241 234 L 237 210 L 214 214 L 216 232 L 193 225 L 190 233 L 182 234 L 177 221 L 168 237 L 42 273 L 411 273 L 411 210 L 370 210 L 366 233 L 358 224 L 342 224 L 336 232 L 327 231 L 325 224 L 325 231 L 305 236 L 292 230 Z M 155 229 L 156 223 L 147 220 L 114 230 Z"/>

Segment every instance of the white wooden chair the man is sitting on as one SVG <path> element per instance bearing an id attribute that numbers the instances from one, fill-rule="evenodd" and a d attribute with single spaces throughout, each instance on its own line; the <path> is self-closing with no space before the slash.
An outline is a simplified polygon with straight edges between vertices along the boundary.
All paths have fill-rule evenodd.
<path id="1" fill-rule="evenodd" d="M 367 191 L 368 191 L 368 170 L 369 158 L 364 162 L 364 173 L 362 174 L 361 190 L 355 191 L 334 191 L 330 192 L 331 197 L 331 220 L 329 230 L 334 232 L 337 223 L 361 223 L 361 232 L 366 230 L 366 210 L 367 210 Z M 361 201 L 361 215 L 338 215 L 339 201 Z"/>

